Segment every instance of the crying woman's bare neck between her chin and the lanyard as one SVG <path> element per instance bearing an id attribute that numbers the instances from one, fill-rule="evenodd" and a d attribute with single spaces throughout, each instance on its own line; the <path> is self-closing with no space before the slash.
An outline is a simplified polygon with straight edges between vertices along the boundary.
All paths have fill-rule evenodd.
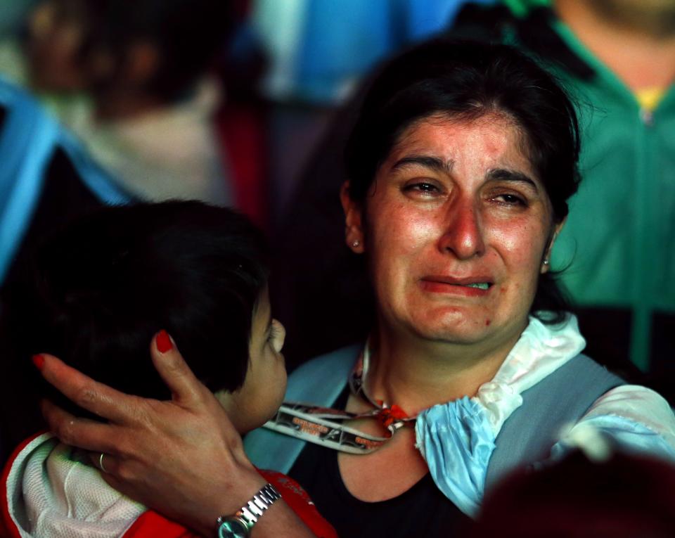
<path id="1" fill-rule="evenodd" d="M 380 329 L 371 339 L 366 390 L 409 415 L 471 397 L 494 378 L 518 338 L 520 333 L 501 342 L 465 345 Z"/>

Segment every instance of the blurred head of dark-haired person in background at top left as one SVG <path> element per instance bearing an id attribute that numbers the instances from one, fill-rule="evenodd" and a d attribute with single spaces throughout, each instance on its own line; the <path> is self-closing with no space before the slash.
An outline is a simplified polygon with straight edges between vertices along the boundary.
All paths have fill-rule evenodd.
<path id="1" fill-rule="evenodd" d="M 28 32 L 32 79 L 51 91 L 120 86 L 174 101 L 232 23 L 229 0 L 42 0 Z"/>

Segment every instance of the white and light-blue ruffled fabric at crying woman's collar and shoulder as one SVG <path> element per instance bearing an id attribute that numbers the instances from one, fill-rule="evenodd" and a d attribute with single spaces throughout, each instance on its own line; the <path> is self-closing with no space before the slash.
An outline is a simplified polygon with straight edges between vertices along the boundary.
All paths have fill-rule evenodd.
<path id="1" fill-rule="evenodd" d="M 420 413 L 417 447 L 436 485 L 461 511 L 477 512 L 496 437 L 522 405 L 522 392 L 576 357 L 585 345 L 574 316 L 558 326 L 531 317 L 496 376 L 481 385 L 475 397 Z M 603 434 L 622 449 L 675 461 L 675 416 L 665 399 L 648 388 L 622 385 L 606 392 L 578 423 L 561 432 L 551 458 L 573 447 L 597 456 L 603 450 Z"/>

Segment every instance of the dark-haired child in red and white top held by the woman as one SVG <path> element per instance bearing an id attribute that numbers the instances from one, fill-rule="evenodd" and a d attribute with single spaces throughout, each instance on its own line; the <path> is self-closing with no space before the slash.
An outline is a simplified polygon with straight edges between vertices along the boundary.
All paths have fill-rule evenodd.
<path id="1" fill-rule="evenodd" d="M 285 334 L 271 319 L 267 276 L 262 234 L 231 210 L 197 202 L 112 207 L 42 245 L 10 323 L 25 361 L 58 354 L 118 390 L 158 399 L 170 395 L 147 342 L 166 329 L 245 433 L 276 412 L 285 390 Z M 56 392 L 49 397 L 72 407 Z M 8 534 L 194 536 L 115 491 L 90 462 L 51 434 L 17 449 L 4 473 Z M 297 484 L 261 474 L 315 534 L 335 537 Z"/>

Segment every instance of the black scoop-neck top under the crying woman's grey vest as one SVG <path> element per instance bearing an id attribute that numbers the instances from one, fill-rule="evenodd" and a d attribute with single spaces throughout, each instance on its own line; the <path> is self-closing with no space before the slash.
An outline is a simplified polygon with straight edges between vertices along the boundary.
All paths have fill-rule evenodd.
<path id="1" fill-rule="evenodd" d="M 335 407 L 344 409 L 348 396 L 349 388 L 345 388 Z M 342 482 L 338 451 L 318 444 L 307 443 L 288 474 L 302 484 L 340 537 L 452 538 L 462 536 L 469 521 L 429 473 L 394 499 L 373 503 L 356 499 Z"/>

